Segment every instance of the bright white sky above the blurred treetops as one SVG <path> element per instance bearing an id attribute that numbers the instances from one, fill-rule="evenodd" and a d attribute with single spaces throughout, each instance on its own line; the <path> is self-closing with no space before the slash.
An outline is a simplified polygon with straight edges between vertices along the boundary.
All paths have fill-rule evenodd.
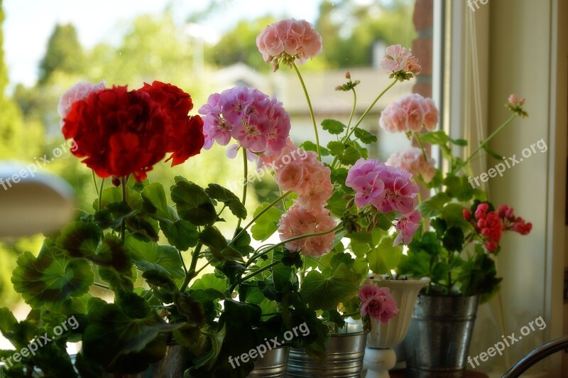
<path id="1" fill-rule="evenodd" d="M 212 0 L 4 0 L 6 19 L 4 59 L 10 84 L 31 86 L 38 75 L 38 63 L 45 53 L 50 34 L 57 23 L 72 23 L 84 48 L 100 41 L 116 41 L 120 25 L 143 13 L 159 13 L 171 4 L 182 23 L 192 10 L 204 9 Z M 207 22 L 200 23 L 209 36 L 215 36 L 243 18 L 267 13 L 305 18 L 314 22 L 320 0 L 217 0 L 222 9 Z"/>

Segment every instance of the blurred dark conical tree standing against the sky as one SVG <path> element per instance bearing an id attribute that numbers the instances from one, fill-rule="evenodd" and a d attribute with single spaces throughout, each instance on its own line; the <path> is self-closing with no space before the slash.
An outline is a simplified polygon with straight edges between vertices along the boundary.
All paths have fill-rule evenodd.
<path id="1" fill-rule="evenodd" d="M 48 40 L 48 48 L 40 61 L 39 83 L 48 82 L 53 72 L 81 72 L 84 68 L 84 55 L 75 26 L 56 25 Z"/>

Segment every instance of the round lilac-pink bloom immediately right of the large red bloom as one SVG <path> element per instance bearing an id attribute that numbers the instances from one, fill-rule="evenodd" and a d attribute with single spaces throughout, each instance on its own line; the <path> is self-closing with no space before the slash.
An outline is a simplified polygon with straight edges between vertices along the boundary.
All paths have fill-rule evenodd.
<path id="1" fill-rule="evenodd" d="M 282 102 L 256 88 L 234 87 L 214 93 L 199 112 L 204 115 L 206 149 L 214 141 L 226 146 L 233 138 L 239 147 L 257 156 L 275 156 L 290 134 L 290 116 Z"/>

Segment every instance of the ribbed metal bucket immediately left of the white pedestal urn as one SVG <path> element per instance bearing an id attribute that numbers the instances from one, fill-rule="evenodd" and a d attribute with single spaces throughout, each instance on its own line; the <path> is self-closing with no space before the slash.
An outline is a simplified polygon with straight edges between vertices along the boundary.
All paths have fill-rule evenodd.
<path id="1" fill-rule="evenodd" d="M 316 362 L 301 348 L 290 348 L 286 377 L 361 378 L 368 331 L 361 324 L 349 324 L 353 332 L 332 333 L 326 355 Z"/>

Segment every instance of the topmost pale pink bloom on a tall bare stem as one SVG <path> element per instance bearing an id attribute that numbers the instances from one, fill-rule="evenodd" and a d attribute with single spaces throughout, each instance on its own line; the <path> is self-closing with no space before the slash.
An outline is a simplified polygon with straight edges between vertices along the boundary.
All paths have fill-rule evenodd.
<path id="1" fill-rule="evenodd" d="M 321 53 L 322 36 L 311 23 L 290 18 L 266 26 L 256 37 L 256 46 L 264 61 L 273 62 L 274 70 L 278 70 L 280 60 L 291 67 Z"/>

